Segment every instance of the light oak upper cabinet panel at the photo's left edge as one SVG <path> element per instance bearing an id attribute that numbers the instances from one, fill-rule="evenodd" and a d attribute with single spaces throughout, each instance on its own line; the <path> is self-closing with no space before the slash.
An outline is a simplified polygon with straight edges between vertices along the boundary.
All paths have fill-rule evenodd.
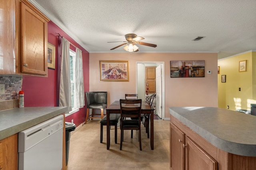
<path id="1" fill-rule="evenodd" d="M 15 6 L 13 0 L 0 0 L 0 74 L 14 74 Z"/>

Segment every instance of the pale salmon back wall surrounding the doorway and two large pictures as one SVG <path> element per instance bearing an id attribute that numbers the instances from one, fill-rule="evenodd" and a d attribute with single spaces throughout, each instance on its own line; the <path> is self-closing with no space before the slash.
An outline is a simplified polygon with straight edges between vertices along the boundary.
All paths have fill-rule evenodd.
<path id="1" fill-rule="evenodd" d="M 129 82 L 100 82 L 100 60 L 128 60 Z M 204 78 L 170 78 L 170 61 L 205 60 Z M 162 61 L 165 74 L 165 117 L 171 106 L 218 107 L 217 53 L 90 53 L 90 91 L 107 91 L 108 105 L 136 92 L 136 62 Z"/>

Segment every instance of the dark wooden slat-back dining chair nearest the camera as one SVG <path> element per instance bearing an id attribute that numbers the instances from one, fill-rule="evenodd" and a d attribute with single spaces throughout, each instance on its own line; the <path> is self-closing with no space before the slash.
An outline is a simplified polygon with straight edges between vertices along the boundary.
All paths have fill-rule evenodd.
<path id="1" fill-rule="evenodd" d="M 141 99 L 137 100 L 124 100 L 120 99 L 120 130 L 121 130 L 121 138 L 120 138 L 120 150 L 122 150 L 122 142 L 124 141 L 124 130 L 138 130 L 138 138 L 141 148 Z M 124 119 L 126 118 L 126 119 Z M 127 119 L 127 118 L 136 118 L 136 119 Z M 131 134 L 132 137 L 132 134 Z"/>

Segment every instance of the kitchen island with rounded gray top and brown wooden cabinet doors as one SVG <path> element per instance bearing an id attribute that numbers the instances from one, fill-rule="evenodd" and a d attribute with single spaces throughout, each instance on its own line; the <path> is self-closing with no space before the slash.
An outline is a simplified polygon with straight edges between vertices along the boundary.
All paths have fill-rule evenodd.
<path id="1" fill-rule="evenodd" d="M 256 116 L 170 107 L 170 169 L 255 170 Z"/>

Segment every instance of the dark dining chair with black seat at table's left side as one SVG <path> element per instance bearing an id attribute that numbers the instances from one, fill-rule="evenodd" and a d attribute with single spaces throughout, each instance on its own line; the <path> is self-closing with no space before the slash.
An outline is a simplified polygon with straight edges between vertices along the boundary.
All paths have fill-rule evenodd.
<path id="1" fill-rule="evenodd" d="M 120 114 L 112 113 L 109 115 L 110 127 L 115 126 L 115 143 L 117 143 L 117 123 L 120 120 Z M 107 116 L 103 117 L 100 121 L 100 143 L 103 141 L 103 126 L 107 125 Z"/>

